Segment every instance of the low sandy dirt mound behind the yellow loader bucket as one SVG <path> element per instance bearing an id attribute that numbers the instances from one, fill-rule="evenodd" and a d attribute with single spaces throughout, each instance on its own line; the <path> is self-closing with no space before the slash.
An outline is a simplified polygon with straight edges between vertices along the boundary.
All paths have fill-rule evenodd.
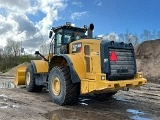
<path id="1" fill-rule="evenodd" d="M 28 65 L 28 62 L 25 62 L 25 63 L 22 63 L 16 67 L 20 67 L 20 66 L 26 66 Z M 5 76 L 15 76 L 15 72 L 16 72 L 16 67 L 10 69 L 9 71 L 7 71 L 6 73 L 3 73 L 2 75 L 5 75 Z"/>

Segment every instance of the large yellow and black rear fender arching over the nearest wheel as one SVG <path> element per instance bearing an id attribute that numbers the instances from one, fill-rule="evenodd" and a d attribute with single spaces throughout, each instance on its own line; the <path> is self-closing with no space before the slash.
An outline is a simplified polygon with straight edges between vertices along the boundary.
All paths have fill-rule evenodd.
<path id="1" fill-rule="evenodd" d="M 51 59 L 50 66 L 56 66 L 55 61 L 58 58 L 62 58 L 61 61 L 66 60 L 71 73 L 71 80 L 73 83 L 80 82 L 81 79 L 85 78 L 85 65 L 84 61 L 80 55 L 69 55 L 69 54 L 59 54 Z M 60 61 L 59 61 L 60 62 Z"/>

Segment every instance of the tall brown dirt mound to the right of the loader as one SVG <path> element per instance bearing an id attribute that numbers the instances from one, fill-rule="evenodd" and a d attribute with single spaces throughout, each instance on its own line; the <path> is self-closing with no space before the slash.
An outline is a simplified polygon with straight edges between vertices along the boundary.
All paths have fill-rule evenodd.
<path id="1" fill-rule="evenodd" d="M 160 39 L 145 41 L 135 47 L 137 69 L 149 81 L 160 83 Z"/>

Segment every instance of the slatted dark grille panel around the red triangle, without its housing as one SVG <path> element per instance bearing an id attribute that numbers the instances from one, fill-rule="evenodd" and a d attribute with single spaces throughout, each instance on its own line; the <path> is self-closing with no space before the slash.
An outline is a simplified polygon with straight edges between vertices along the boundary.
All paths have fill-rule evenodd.
<path id="1" fill-rule="evenodd" d="M 109 61 L 110 63 L 110 76 L 117 79 L 125 79 L 135 74 L 135 60 L 134 51 L 125 49 L 109 49 L 109 55 L 114 51 L 117 55 L 117 61 Z M 132 77 L 131 77 L 132 78 Z"/>

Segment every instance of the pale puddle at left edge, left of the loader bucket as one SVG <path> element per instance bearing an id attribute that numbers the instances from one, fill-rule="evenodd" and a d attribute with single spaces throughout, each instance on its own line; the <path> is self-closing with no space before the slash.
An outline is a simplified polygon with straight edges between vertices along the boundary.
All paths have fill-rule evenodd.
<path id="1" fill-rule="evenodd" d="M 0 88 L 16 88 L 16 86 L 11 81 L 0 81 Z"/>

